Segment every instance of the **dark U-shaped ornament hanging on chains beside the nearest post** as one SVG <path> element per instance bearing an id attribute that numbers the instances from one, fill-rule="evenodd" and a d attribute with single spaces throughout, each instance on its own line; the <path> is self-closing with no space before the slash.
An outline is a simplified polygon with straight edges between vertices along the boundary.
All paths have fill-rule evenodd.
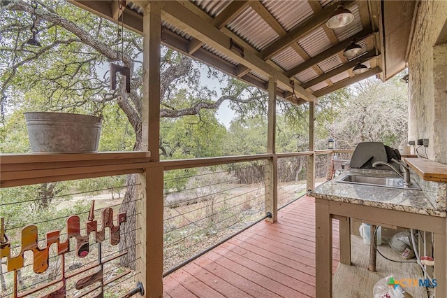
<path id="1" fill-rule="evenodd" d="M 121 28 L 119 28 L 119 20 L 117 20 L 117 59 L 115 61 L 121 60 L 122 65 L 110 63 L 110 90 L 117 89 L 117 73 L 121 73 L 122 76 L 126 77 L 126 92 L 131 92 L 131 69 L 124 66 L 124 6 L 126 6 L 125 0 L 118 0 L 119 17 L 121 17 Z M 118 18 L 119 18 L 118 17 Z M 121 59 L 119 59 L 119 39 L 121 38 Z"/>

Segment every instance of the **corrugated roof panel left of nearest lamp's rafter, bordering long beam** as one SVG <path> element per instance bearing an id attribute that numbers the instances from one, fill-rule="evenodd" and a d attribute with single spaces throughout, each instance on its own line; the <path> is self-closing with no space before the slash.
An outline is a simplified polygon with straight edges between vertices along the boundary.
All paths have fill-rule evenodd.
<path id="1" fill-rule="evenodd" d="M 227 26 L 238 36 L 244 38 L 256 50 L 262 50 L 279 35 L 270 27 L 256 11 L 248 6 Z"/>

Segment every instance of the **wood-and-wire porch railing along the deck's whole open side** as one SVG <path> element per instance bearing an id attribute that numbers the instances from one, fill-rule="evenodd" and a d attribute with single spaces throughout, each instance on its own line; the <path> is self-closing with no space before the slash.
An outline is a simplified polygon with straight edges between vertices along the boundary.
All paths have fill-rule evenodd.
<path id="1" fill-rule="evenodd" d="M 327 178 L 332 153 L 163 162 L 149 162 L 148 152 L 2 155 L 0 298 L 126 295 L 136 281 L 152 278 L 142 272 L 154 240 L 146 227 L 161 212 L 147 204 L 163 200 L 166 275 L 255 222 L 274 219 L 278 206 L 305 194 L 309 174 L 317 182 Z M 315 171 L 307 169 L 309 160 Z M 151 177 L 159 169 L 163 195 L 147 201 L 152 180 L 143 185 L 144 176 L 126 175 Z"/>

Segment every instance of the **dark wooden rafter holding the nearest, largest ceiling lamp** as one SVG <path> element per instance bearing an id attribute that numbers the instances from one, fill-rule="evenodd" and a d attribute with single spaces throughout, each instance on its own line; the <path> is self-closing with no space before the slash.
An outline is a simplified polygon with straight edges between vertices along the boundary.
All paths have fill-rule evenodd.
<path id="1" fill-rule="evenodd" d="M 353 3 L 353 1 L 344 1 L 345 5 L 349 5 L 350 3 Z M 284 48 L 298 41 L 298 39 L 311 33 L 322 24 L 325 24 L 336 8 L 335 5 L 327 6 L 320 13 L 314 15 L 314 17 L 293 27 L 286 35 L 279 37 L 276 41 L 261 50 L 260 57 L 264 60 L 270 59 L 278 52 L 281 52 L 281 50 L 284 50 Z"/>

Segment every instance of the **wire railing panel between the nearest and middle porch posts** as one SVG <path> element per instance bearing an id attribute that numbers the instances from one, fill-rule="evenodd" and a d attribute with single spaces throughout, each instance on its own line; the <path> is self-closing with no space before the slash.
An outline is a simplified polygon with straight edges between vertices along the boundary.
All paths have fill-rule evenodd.
<path id="1" fill-rule="evenodd" d="M 265 162 L 165 171 L 164 269 L 265 215 Z"/>

